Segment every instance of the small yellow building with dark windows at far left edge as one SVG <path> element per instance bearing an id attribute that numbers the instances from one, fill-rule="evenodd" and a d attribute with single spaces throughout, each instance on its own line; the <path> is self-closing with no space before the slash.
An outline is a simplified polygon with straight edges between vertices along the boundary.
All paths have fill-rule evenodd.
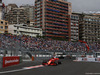
<path id="1" fill-rule="evenodd" d="M 8 21 L 0 20 L 0 33 L 8 33 Z"/>

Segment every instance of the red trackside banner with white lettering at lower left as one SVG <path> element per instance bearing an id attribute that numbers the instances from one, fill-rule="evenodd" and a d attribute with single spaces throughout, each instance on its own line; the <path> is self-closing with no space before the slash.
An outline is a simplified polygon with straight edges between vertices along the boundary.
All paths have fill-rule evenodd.
<path id="1" fill-rule="evenodd" d="M 19 64 L 19 57 L 3 57 L 3 67 Z"/>

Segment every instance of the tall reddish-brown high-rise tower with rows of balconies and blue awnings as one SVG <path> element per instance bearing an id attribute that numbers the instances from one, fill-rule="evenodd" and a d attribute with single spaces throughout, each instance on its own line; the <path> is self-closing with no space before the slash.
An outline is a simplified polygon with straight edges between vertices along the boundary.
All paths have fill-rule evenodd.
<path id="1" fill-rule="evenodd" d="M 35 0 L 35 27 L 43 29 L 43 36 L 69 40 L 71 36 L 70 14 L 70 2 Z"/>

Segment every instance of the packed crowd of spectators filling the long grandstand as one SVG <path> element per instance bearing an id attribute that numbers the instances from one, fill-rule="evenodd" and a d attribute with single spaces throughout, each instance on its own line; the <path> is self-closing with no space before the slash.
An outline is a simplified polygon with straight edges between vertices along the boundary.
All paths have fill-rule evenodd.
<path id="1" fill-rule="evenodd" d="M 100 44 L 87 44 L 91 52 L 99 52 Z M 86 52 L 87 47 L 82 42 L 59 41 L 36 38 L 24 35 L 0 34 L 0 49 L 6 50 L 40 50 L 40 51 L 72 51 Z"/>

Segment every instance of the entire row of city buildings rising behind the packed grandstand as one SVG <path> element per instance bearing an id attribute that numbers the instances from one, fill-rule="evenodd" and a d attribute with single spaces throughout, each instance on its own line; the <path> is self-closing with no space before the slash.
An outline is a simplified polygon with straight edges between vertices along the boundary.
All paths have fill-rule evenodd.
<path id="1" fill-rule="evenodd" d="M 100 14 L 72 13 L 71 5 L 67 0 L 35 0 L 34 6 L 28 4 L 5 6 L 1 0 L 0 33 L 9 33 L 11 31 L 9 27 L 20 29 L 22 27 L 23 31 L 12 29 L 13 32 L 10 33 L 31 36 L 36 28 L 38 32 L 36 34 L 39 35 L 41 30 L 40 36 L 47 38 L 61 38 L 68 41 L 83 40 L 88 43 L 100 42 Z M 4 25 L 5 22 L 7 25 Z M 24 24 L 28 29 L 22 26 Z M 3 28 L 6 29 L 2 31 Z"/>

